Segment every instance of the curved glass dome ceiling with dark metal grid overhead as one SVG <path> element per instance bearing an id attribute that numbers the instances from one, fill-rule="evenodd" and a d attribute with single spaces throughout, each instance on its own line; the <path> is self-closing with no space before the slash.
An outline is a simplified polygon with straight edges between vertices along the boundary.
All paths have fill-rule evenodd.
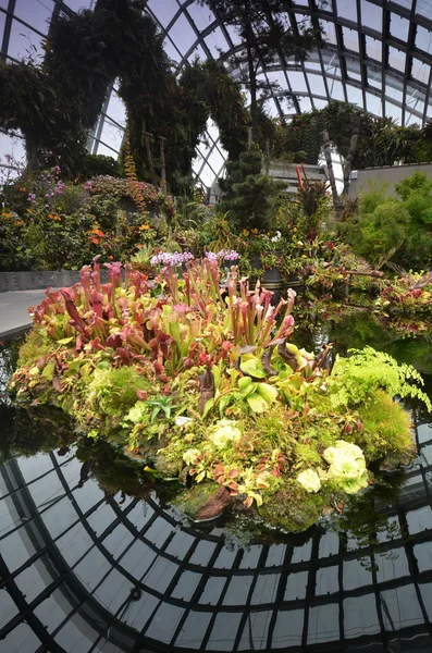
<path id="1" fill-rule="evenodd" d="M 0 0 L 1 56 L 42 57 L 41 40 L 51 17 L 94 4 L 95 0 Z M 281 54 L 260 71 L 280 86 L 267 102 L 271 115 L 289 119 L 335 99 L 403 125 L 422 124 L 432 116 L 430 0 L 286 0 L 284 4 L 293 26 L 319 21 L 326 44 L 303 64 Z M 165 35 L 166 52 L 177 70 L 197 56 L 224 60 L 238 51 L 235 29 L 196 0 L 148 0 L 146 11 Z M 236 76 L 238 70 L 232 73 Z M 124 124 L 124 108 L 114 87 L 90 138 L 90 150 L 115 156 Z M 218 140 L 218 130 L 209 123 L 194 162 L 197 178 L 207 187 L 225 160 Z M 10 150 L 10 138 L 0 135 L 0 156 Z M 22 145 L 15 145 L 14 151 L 20 156 Z"/>

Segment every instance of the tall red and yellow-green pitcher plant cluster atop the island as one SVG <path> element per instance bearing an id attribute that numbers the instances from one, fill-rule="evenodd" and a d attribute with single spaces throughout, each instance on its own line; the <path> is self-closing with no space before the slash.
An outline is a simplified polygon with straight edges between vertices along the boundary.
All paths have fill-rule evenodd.
<path id="1" fill-rule="evenodd" d="M 172 375 L 195 365 L 211 367 L 238 346 L 267 347 L 294 326 L 294 292 L 273 307 L 272 293 L 259 285 L 249 289 L 246 280 L 237 280 L 235 268 L 226 287 L 221 286 L 215 261 L 192 261 L 182 276 L 174 267 L 165 267 L 152 292 L 147 278 L 128 264 L 104 266 L 108 283 L 101 283 L 96 258 L 92 270 L 82 269 L 81 284 L 47 291 L 34 309 L 41 333 L 61 345 L 73 340 L 75 354 L 85 346 L 104 348 L 116 366 L 145 356 L 159 374 L 164 368 Z"/>

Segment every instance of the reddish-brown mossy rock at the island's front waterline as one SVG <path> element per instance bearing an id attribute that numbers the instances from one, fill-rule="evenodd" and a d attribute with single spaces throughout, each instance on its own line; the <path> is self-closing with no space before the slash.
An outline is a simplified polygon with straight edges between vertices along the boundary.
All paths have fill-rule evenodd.
<path id="1" fill-rule="evenodd" d="M 215 519 L 231 504 L 230 492 L 218 483 L 199 483 L 180 494 L 174 505 L 194 521 Z"/>

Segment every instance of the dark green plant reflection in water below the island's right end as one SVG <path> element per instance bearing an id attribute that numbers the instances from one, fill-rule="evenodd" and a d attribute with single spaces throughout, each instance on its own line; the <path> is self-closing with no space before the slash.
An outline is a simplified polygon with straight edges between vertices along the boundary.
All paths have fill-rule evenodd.
<path id="1" fill-rule="evenodd" d="M 387 551 L 387 542 L 395 539 L 407 542 L 409 539 L 397 520 L 388 520 L 386 509 L 388 505 L 394 505 L 405 480 L 404 472 L 375 479 L 373 488 L 365 494 L 350 496 L 344 513 L 329 520 L 331 530 L 344 540 L 355 540 L 356 547 L 361 552 L 359 563 L 368 571 L 379 569 L 380 557 L 390 560 L 398 557 L 392 550 Z"/>

